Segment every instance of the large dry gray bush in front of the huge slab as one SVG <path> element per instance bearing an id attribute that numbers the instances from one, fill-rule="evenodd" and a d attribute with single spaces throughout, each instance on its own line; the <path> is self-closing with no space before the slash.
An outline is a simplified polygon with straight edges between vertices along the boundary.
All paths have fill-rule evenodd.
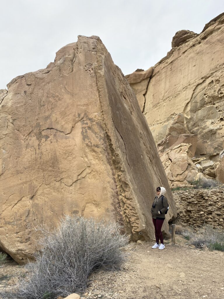
<path id="1" fill-rule="evenodd" d="M 115 223 L 65 216 L 53 231 L 39 230 L 44 237 L 36 261 L 27 264 L 27 277 L 2 293 L 3 299 L 54 299 L 83 291 L 94 269 L 119 269 L 127 258 L 120 248 L 128 244 L 128 236 Z"/>

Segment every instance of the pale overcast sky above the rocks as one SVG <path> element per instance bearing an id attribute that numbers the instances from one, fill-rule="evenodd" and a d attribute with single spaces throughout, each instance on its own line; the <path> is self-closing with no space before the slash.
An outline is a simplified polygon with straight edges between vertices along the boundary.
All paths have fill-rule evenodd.
<path id="1" fill-rule="evenodd" d="M 78 35 L 98 35 L 123 73 L 166 56 L 181 29 L 200 33 L 223 0 L 0 0 L 0 89 L 45 68 Z"/>

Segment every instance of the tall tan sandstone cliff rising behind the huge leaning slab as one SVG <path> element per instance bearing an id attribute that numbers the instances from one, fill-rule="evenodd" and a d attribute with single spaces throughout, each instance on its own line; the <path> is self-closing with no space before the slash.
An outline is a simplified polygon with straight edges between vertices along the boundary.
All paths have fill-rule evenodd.
<path id="1" fill-rule="evenodd" d="M 196 157 L 218 161 L 224 148 L 224 13 L 200 34 L 178 31 L 172 46 L 154 66 L 147 90 L 145 80 L 131 87 L 144 95 L 144 104 L 137 96 L 139 105 L 163 150 L 189 143 Z"/>

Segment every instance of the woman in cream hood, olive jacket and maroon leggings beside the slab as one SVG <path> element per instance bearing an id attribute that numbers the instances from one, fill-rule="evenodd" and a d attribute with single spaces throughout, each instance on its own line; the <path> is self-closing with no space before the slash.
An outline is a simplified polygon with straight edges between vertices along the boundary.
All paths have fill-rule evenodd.
<path id="1" fill-rule="evenodd" d="M 164 187 L 156 188 L 157 196 L 154 199 L 152 204 L 151 213 L 152 213 L 152 221 L 155 227 L 155 236 L 156 243 L 152 246 L 152 248 L 164 249 L 165 245 L 163 244 L 163 235 L 162 235 L 162 224 L 165 220 L 165 212 L 168 210 L 168 201 L 164 194 L 166 193 L 166 189 Z M 160 245 L 159 245 L 160 240 Z"/>

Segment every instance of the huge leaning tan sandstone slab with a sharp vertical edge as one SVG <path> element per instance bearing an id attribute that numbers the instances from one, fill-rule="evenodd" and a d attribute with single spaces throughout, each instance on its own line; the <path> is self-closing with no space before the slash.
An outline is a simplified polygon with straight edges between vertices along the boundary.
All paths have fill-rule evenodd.
<path id="1" fill-rule="evenodd" d="M 155 188 L 168 181 L 135 94 L 97 36 L 79 36 L 46 69 L 1 91 L 0 247 L 18 263 L 35 223 L 63 214 L 107 218 L 133 240 L 154 237 Z"/>

